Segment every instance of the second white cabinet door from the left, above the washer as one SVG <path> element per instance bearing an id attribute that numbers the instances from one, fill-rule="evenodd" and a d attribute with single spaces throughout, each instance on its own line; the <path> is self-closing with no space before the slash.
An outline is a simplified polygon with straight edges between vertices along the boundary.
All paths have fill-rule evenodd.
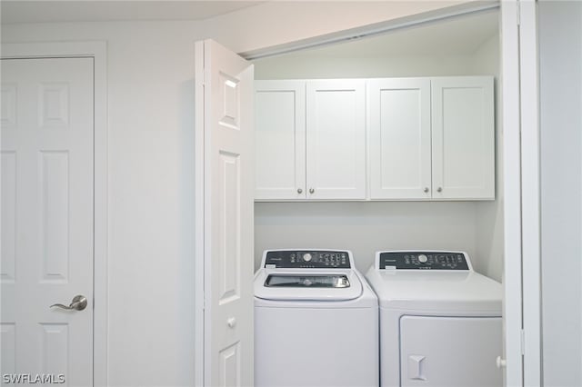
<path id="1" fill-rule="evenodd" d="M 364 80 L 307 81 L 307 199 L 366 199 Z"/>

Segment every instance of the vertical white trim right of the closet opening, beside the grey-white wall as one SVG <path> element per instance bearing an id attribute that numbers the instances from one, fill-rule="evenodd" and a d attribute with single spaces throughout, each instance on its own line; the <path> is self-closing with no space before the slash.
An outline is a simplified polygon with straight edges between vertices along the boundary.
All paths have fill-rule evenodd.
<path id="1" fill-rule="evenodd" d="M 541 153 L 537 1 L 518 0 L 521 113 L 523 385 L 543 384 Z M 509 313 L 509 312 L 508 312 Z"/>

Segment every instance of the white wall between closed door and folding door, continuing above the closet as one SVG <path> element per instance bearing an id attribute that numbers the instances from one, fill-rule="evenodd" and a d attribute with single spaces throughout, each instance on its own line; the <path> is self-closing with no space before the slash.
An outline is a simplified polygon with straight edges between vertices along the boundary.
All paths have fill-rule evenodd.
<path id="1" fill-rule="evenodd" d="M 241 52 L 450 4 L 269 2 L 201 22 L 2 25 L 3 42 L 107 42 L 109 385 L 194 384 L 194 41 Z"/>

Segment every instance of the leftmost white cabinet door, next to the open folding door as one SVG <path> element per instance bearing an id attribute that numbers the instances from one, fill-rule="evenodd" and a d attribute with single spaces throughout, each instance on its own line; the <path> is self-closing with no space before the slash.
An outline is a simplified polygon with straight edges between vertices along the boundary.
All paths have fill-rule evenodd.
<path id="1" fill-rule="evenodd" d="M 256 81 L 255 106 L 255 199 L 305 199 L 305 82 Z"/>

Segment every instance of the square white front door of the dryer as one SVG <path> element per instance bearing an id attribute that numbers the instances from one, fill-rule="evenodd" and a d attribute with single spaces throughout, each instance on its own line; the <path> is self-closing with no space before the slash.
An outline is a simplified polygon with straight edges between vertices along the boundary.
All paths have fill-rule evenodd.
<path id="1" fill-rule="evenodd" d="M 500 317 L 404 316 L 400 385 L 501 387 Z"/>

